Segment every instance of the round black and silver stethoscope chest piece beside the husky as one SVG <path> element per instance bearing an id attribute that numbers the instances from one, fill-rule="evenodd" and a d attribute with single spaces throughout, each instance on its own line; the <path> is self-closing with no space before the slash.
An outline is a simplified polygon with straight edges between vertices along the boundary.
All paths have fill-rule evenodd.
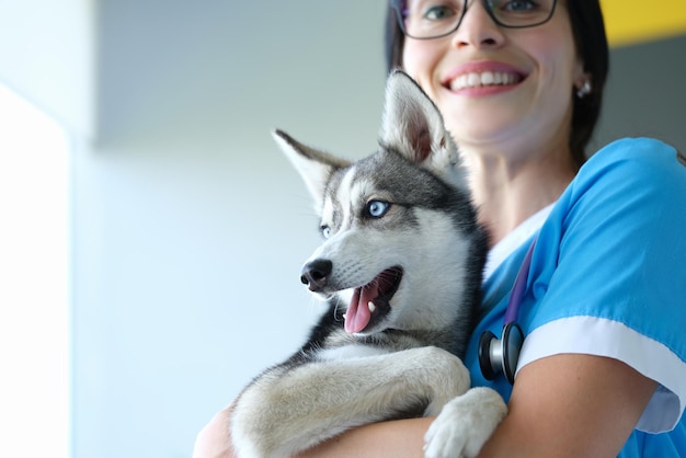
<path id="1" fill-rule="evenodd" d="M 502 371 L 507 381 L 514 383 L 523 343 L 524 333 L 515 322 L 503 327 L 502 339 L 491 331 L 483 332 L 479 341 L 479 366 L 483 377 L 493 380 Z"/>

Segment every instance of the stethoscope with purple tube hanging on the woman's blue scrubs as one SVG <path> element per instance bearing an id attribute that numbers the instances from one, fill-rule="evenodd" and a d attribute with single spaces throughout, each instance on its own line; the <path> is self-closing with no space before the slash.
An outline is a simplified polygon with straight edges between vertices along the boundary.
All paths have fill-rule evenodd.
<path id="1" fill-rule="evenodd" d="M 491 331 L 484 331 L 479 340 L 479 366 L 481 367 L 481 374 L 483 374 L 487 380 L 493 380 L 499 373 L 503 371 L 507 381 L 514 383 L 519 352 L 524 343 L 524 333 L 519 324 L 517 324 L 517 318 L 519 317 L 519 306 L 524 298 L 526 278 L 531 265 L 531 254 L 535 245 L 536 239 L 534 239 L 526 252 L 519 272 L 517 272 L 517 277 L 507 301 L 507 308 L 505 309 L 501 339 L 499 340 Z"/>

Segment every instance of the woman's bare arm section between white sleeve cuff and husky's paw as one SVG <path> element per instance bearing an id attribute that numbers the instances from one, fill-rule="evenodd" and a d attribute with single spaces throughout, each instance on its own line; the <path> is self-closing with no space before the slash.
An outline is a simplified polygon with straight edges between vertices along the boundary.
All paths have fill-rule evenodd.
<path id="1" fill-rule="evenodd" d="M 655 389 L 617 359 L 538 359 L 519 370 L 510 413 L 480 457 L 616 457 Z"/>

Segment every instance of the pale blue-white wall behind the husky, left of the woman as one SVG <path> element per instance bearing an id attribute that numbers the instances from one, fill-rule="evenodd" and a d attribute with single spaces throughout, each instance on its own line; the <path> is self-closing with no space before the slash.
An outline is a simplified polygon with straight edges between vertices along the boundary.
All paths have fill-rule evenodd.
<path id="1" fill-rule="evenodd" d="M 188 457 L 316 319 L 317 220 L 270 130 L 375 149 L 385 2 L 16 3 L 0 80 L 75 138 L 73 456 Z"/>

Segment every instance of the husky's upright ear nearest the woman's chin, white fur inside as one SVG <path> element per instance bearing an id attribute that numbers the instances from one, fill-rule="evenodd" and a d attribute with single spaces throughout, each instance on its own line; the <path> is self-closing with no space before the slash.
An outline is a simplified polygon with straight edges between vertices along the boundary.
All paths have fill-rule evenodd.
<path id="1" fill-rule="evenodd" d="M 457 147 L 441 112 L 422 88 L 401 70 L 395 70 L 386 84 L 379 142 L 441 176 L 450 174 L 460 164 Z"/>

